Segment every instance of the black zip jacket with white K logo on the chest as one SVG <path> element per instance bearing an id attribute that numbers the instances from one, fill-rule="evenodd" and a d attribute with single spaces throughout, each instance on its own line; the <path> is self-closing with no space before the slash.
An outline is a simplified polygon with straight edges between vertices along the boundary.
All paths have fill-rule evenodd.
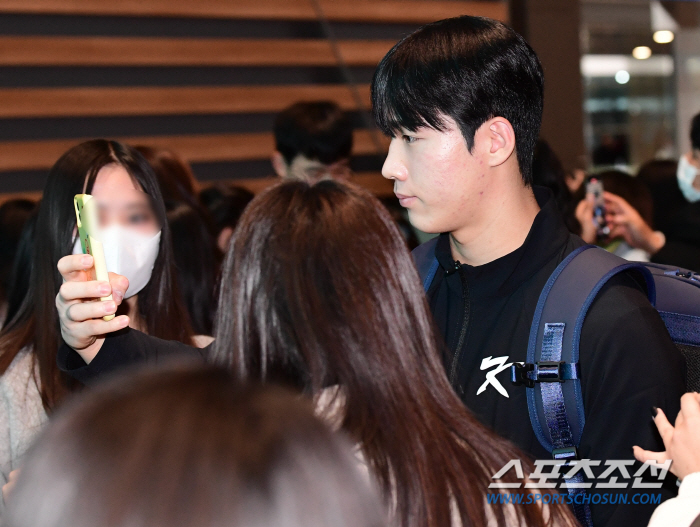
<path id="1" fill-rule="evenodd" d="M 549 192 L 536 189 L 535 195 L 541 210 L 525 243 L 493 262 L 457 264 L 449 236 L 441 235 L 428 302 L 446 343 L 445 370 L 465 405 L 533 458 L 551 459 L 532 430 L 525 388 L 512 385 L 509 368 L 500 365 L 526 361 L 540 292 L 557 265 L 584 242 L 568 232 Z M 582 328 L 580 364 L 586 417 L 580 456 L 604 462 L 633 459 L 633 445 L 664 450 L 650 409 L 657 406 L 675 418 L 685 364 L 633 278 L 616 277 L 594 301 Z M 486 374 L 495 369 L 501 370 L 497 382 L 488 383 Z M 653 508 L 599 505 L 591 511 L 596 527 L 642 526 Z"/>

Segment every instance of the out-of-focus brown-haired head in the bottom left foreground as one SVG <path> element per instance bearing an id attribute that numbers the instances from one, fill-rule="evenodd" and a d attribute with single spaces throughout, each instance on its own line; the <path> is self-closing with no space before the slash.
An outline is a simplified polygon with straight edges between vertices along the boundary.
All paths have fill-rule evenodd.
<path id="1" fill-rule="evenodd" d="M 287 390 L 228 371 L 132 374 L 62 408 L 7 527 L 381 527 L 350 444 Z"/>

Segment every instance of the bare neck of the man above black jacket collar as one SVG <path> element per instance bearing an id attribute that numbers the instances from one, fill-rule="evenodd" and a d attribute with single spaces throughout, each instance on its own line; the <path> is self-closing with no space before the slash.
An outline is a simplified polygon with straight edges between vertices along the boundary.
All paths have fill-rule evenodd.
<path id="1" fill-rule="evenodd" d="M 450 233 L 452 257 L 463 264 L 484 265 L 523 245 L 540 211 L 532 187 L 513 174 L 493 174 L 479 203 L 480 214 Z"/>

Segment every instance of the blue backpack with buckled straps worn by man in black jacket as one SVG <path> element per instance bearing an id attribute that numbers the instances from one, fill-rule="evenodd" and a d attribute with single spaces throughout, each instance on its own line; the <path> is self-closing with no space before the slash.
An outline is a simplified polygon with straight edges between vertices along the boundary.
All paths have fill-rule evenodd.
<path id="1" fill-rule="evenodd" d="M 413 251 L 427 292 L 435 278 L 437 238 Z M 588 309 L 598 292 L 620 273 L 632 273 L 646 285 L 649 302 L 657 309 L 671 339 L 683 354 L 688 391 L 700 390 L 700 275 L 653 263 L 628 262 L 593 245 L 569 254 L 547 280 L 530 328 L 527 362 L 511 366 L 511 381 L 527 389 L 532 428 L 554 459 L 578 459 L 577 447 L 585 424 L 579 341 Z M 578 472 L 567 480 L 583 483 Z M 592 526 L 583 488 L 568 488 L 582 525 Z"/>

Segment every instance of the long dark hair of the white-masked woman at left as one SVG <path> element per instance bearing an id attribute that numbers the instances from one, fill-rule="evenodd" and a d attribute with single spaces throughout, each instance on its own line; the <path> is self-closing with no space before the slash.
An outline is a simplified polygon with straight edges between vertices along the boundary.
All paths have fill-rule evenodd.
<path id="1" fill-rule="evenodd" d="M 63 154 L 49 172 L 34 226 L 29 291 L 17 314 L 0 332 L 0 374 L 7 370 L 22 348 L 32 346 L 35 363 L 39 366 L 37 386 L 47 412 L 75 388 L 75 382 L 56 365 L 61 335 L 55 306 L 62 283 L 56 264 L 73 249 L 76 224 L 73 197 L 83 192 L 89 194 L 97 173 L 110 164 L 123 166 L 151 196 L 162 229 L 151 279 L 139 293 L 138 311 L 143 329 L 159 338 L 192 343 L 192 330 L 173 271 L 165 206 L 153 170 L 143 156 L 128 145 L 105 139 L 81 143 Z"/>

